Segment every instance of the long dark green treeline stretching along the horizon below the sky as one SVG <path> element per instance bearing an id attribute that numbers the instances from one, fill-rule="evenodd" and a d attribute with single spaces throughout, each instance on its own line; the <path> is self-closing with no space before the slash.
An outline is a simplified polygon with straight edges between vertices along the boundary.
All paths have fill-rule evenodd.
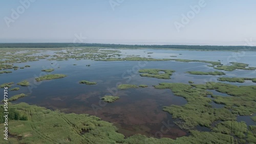
<path id="1" fill-rule="evenodd" d="M 216 46 L 216 45 L 127 45 L 100 43 L 0 43 L 0 48 L 56 48 L 56 47 L 109 47 L 109 48 L 160 48 L 208 51 L 256 51 L 256 46 Z"/>

